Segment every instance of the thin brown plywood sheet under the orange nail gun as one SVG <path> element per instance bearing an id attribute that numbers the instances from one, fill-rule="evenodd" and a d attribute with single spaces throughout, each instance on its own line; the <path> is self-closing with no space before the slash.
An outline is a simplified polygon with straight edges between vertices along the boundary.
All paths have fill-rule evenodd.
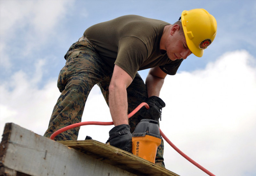
<path id="1" fill-rule="evenodd" d="M 178 176 L 163 167 L 155 165 L 145 159 L 137 157 L 129 152 L 106 145 L 94 140 L 85 141 L 59 141 L 60 143 L 79 150 L 93 158 L 100 159 L 111 165 L 115 165 L 136 175 L 154 176 Z"/>

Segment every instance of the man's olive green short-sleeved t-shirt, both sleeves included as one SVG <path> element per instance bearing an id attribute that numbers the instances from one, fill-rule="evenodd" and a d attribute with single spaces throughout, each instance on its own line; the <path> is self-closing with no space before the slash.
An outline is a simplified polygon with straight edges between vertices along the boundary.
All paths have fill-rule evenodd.
<path id="1" fill-rule="evenodd" d="M 98 54 L 108 65 L 124 69 L 132 78 L 138 70 L 159 66 L 175 75 L 183 59 L 171 61 L 160 52 L 160 39 L 167 22 L 138 15 L 125 15 L 85 30 Z"/>

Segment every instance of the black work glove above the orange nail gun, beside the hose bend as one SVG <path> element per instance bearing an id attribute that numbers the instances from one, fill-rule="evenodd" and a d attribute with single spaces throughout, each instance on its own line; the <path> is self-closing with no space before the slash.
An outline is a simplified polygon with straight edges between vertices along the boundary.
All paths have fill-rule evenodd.
<path id="1" fill-rule="evenodd" d="M 144 119 L 152 119 L 155 121 L 161 121 L 162 108 L 165 107 L 165 103 L 162 99 L 156 96 L 149 97 L 146 103 L 149 109 L 143 108 L 140 111 L 140 115 Z"/>

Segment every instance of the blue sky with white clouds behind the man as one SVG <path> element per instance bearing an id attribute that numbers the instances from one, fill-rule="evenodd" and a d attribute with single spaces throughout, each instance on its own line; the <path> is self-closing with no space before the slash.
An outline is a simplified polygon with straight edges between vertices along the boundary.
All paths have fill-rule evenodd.
<path id="1" fill-rule="evenodd" d="M 181 151 L 216 176 L 256 175 L 255 0 L 0 0 L 0 135 L 15 123 L 39 135 L 48 127 L 60 92 L 64 55 L 84 30 L 122 15 L 174 23 L 183 10 L 204 8 L 217 20 L 213 43 L 167 76 L 160 128 Z M 139 72 L 145 80 L 148 70 Z M 112 121 L 94 86 L 82 121 Z M 113 126 L 83 126 L 105 143 Z M 207 174 L 165 142 L 165 166 L 180 176 Z"/>

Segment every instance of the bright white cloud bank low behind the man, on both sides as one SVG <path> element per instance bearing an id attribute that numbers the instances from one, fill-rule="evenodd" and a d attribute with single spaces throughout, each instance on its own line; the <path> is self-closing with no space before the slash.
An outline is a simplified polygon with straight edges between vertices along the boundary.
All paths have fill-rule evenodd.
<path id="1" fill-rule="evenodd" d="M 253 63 L 254 62 L 254 63 Z M 35 66 L 42 72 L 44 60 Z M 41 77 L 28 78 L 16 72 L 1 83 L 1 131 L 13 122 L 43 135 L 60 93 L 56 80 L 44 87 Z M 256 173 L 256 68 L 246 51 L 222 55 L 203 70 L 168 76 L 161 92 L 165 101 L 161 129 L 185 154 L 218 176 L 246 176 Z M 111 121 L 108 107 L 95 87 L 89 95 L 82 121 Z M 100 142 L 108 139 L 113 126 L 81 127 Z M 179 175 L 206 176 L 165 143 L 167 169 Z"/>

